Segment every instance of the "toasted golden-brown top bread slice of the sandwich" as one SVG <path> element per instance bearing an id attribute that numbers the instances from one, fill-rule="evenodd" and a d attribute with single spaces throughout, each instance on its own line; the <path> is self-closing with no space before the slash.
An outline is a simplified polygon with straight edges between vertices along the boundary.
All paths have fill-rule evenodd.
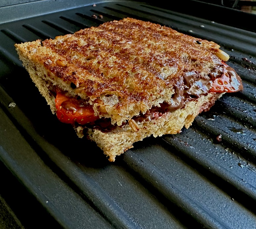
<path id="1" fill-rule="evenodd" d="M 207 75 L 220 46 L 150 22 L 125 18 L 45 41 L 16 44 L 24 65 L 80 96 L 94 114 L 122 123 L 169 102 L 186 72 Z M 52 100 L 49 99 L 48 103 Z M 50 104 L 55 112 L 54 104 Z"/>

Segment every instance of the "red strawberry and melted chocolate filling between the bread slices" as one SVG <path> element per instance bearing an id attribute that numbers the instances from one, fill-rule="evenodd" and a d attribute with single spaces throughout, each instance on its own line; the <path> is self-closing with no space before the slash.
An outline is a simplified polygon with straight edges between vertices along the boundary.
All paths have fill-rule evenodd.
<path id="1" fill-rule="evenodd" d="M 166 84 L 168 85 L 168 81 L 166 81 Z M 145 114 L 134 116 L 132 120 L 141 123 L 157 119 L 166 112 L 182 109 L 186 102 L 196 100 L 202 95 L 237 92 L 242 89 L 240 77 L 233 68 L 224 62 L 204 78 L 199 77 L 199 74 L 195 71 L 188 71 L 184 73 L 183 80 L 176 82 L 174 85 L 175 92 L 168 103 L 163 102 L 160 107 L 152 107 Z M 86 125 L 102 131 L 110 131 L 116 126 L 111 124 L 110 118 L 94 116 L 93 106 L 79 96 L 77 98 L 68 97 L 59 89 L 51 89 L 50 91 L 55 95 L 56 115 L 61 122 L 73 126 Z M 213 103 L 209 103 L 209 105 L 213 105 Z M 125 124 L 127 122 L 123 122 L 122 125 Z M 133 130 L 137 132 L 136 124 L 133 123 L 132 126 L 135 126 Z"/>

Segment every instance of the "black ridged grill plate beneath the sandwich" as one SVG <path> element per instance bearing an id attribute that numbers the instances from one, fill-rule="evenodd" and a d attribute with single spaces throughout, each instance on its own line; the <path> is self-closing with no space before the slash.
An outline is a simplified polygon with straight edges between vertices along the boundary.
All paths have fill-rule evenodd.
<path id="1" fill-rule="evenodd" d="M 255 228 L 253 28 L 238 29 L 163 5 L 93 3 L 42 0 L 0 8 L 2 163 L 64 228 Z M 217 42 L 230 55 L 228 64 L 241 76 L 244 90 L 224 95 L 181 134 L 144 139 L 109 163 L 93 142 L 77 138 L 70 125 L 51 114 L 14 43 L 55 38 L 124 17 Z M 12 102 L 16 106 L 10 108 Z"/>

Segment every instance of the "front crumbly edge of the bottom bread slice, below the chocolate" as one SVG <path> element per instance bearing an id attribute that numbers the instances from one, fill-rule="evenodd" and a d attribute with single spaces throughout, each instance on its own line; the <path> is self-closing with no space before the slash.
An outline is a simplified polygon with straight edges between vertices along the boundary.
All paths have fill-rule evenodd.
<path id="1" fill-rule="evenodd" d="M 88 135 L 103 150 L 104 154 L 109 157 L 108 160 L 114 162 L 117 155 L 132 148 L 132 144 L 136 141 L 141 141 L 151 135 L 158 137 L 165 134 L 177 134 L 183 126 L 189 128 L 195 117 L 202 111 L 208 111 L 216 99 L 220 98 L 223 94 L 209 93 L 206 96 L 201 96 L 197 100 L 187 102 L 182 109 L 164 113 L 158 119 L 137 123 L 139 127 L 138 132 L 134 132 L 126 124 L 123 127 L 117 126 L 110 132 L 88 129 Z M 77 132 L 79 130 L 81 129 L 78 128 Z"/>

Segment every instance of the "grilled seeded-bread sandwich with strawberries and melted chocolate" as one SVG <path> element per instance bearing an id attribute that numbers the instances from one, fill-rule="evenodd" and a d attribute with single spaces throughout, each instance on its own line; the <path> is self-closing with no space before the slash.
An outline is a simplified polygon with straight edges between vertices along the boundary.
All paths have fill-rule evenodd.
<path id="1" fill-rule="evenodd" d="M 111 162 L 243 88 L 218 44 L 132 18 L 15 46 L 52 112 Z"/>

